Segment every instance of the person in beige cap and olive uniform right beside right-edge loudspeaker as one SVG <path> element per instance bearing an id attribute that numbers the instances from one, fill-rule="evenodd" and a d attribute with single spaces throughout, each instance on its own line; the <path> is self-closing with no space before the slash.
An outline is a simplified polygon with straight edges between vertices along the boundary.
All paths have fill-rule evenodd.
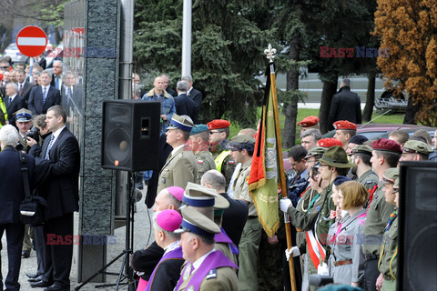
<path id="1" fill-rule="evenodd" d="M 399 207 L 395 193 L 399 190 L 399 168 L 393 167 L 385 171 L 382 177 L 385 201 Z M 396 184 L 397 182 L 397 184 Z M 395 187 L 396 186 L 396 187 Z M 398 251 L 398 213 L 394 210 L 385 226 L 384 239 L 381 245 L 381 256 L 378 269 L 381 274 L 376 280 L 376 287 L 383 291 L 396 291 L 397 251 Z"/>

